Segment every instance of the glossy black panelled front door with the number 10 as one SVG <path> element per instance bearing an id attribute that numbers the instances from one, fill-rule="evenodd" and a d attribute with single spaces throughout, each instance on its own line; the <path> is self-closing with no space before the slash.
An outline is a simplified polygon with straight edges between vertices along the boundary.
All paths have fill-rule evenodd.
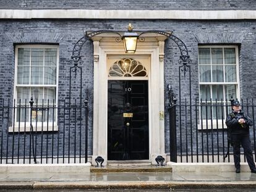
<path id="1" fill-rule="evenodd" d="M 108 160 L 148 157 L 148 81 L 108 81 Z"/>

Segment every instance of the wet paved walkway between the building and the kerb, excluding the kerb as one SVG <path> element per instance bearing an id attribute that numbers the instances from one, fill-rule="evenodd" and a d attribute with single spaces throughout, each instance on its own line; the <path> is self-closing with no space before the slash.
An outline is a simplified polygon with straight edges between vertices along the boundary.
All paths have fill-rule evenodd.
<path id="1" fill-rule="evenodd" d="M 1 182 L 256 182 L 250 172 L 216 173 L 0 173 Z"/>

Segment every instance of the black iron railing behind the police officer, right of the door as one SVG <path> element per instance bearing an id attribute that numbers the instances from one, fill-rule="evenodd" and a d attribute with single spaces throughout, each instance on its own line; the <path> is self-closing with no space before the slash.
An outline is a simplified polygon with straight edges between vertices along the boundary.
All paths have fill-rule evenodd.
<path id="1" fill-rule="evenodd" d="M 171 101 L 169 99 L 169 101 Z M 169 105 L 170 157 L 173 162 L 233 162 L 233 148 L 228 144 L 226 117 L 231 112 L 230 102 L 198 101 L 190 104 L 186 99 Z M 253 120 L 250 140 L 256 158 L 254 99 L 242 100 L 242 110 Z M 242 158 L 245 156 L 241 148 Z"/>

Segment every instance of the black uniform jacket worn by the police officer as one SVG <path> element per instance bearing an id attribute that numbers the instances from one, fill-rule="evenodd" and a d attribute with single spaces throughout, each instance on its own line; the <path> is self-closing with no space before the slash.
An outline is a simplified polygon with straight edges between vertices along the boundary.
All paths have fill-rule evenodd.
<path id="1" fill-rule="evenodd" d="M 239 119 L 244 119 L 245 123 L 239 123 Z M 232 134 L 249 134 L 249 126 L 252 124 L 252 119 L 244 114 L 243 111 L 228 114 L 226 125 L 231 129 Z"/>

